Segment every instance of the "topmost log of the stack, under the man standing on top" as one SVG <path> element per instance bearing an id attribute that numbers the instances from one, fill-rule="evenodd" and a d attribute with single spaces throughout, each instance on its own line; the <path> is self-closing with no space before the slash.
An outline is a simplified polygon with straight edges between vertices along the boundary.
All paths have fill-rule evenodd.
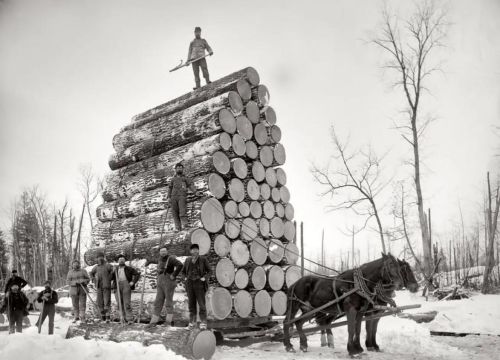
<path id="1" fill-rule="evenodd" d="M 239 80 L 247 80 L 252 86 L 257 86 L 260 83 L 259 74 L 254 68 L 248 67 L 236 71 L 219 80 L 213 81 L 211 84 L 208 84 L 207 86 L 204 86 L 197 91 L 189 92 L 176 99 L 170 100 L 165 104 L 159 105 L 153 109 L 135 115 L 132 119 L 133 123 L 125 126 L 124 130 L 142 126 L 145 123 L 159 118 L 160 116 L 167 116 L 169 114 L 181 111 L 228 91 L 238 91 L 238 89 L 245 89 L 245 87 L 241 86 L 241 82 L 240 86 L 238 86 Z M 243 94 L 240 94 L 240 96 L 242 95 Z"/>

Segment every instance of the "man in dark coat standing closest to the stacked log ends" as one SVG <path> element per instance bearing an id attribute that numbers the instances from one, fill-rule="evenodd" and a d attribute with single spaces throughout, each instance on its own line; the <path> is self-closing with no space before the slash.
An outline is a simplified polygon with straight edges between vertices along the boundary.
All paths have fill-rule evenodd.
<path id="1" fill-rule="evenodd" d="M 196 324 L 196 305 L 200 315 L 200 328 L 207 327 L 207 310 L 205 307 L 205 293 L 208 288 L 210 276 L 210 264 L 204 256 L 200 256 L 198 244 L 192 244 L 191 256 L 188 256 L 182 267 L 182 275 L 186 279 L 186 293 L 189 303 L 189 326 L 193 328 Z"/>

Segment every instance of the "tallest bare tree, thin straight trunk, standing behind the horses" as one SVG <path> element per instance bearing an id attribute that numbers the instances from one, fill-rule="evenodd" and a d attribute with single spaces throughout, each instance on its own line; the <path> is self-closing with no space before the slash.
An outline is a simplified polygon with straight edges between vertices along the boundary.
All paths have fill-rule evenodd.
<path id="1" fill-rule="evenodd" d="M 448 23 L 446 14 L 432 2 L 415 2 L 415 11 L 407 20 L 399 19 L 387 9 L 382 12 L 383 24 L 372 41 L 388 57 L 385 68 L 397 77 L 394 87 L 401 89 L 406 102 L 405 118 L 396 124 L 403 139 L 413 152 L 411 164 L 422 236 L 424 269 L 432 271 L 432 244 L 425 213 L 421 184 L 420 141 L 431 118 L 422 116 L 422 96 L 429 77 L 439 70 L 431 61 L 436 50 L 443 46 Z M 426 119 L 425 119 L 426 118 Z"/>

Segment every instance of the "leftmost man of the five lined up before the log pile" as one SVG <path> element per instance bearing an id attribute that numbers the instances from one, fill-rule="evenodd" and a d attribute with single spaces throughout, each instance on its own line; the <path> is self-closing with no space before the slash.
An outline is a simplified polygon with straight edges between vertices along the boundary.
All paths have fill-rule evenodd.
<path id="1" fill-rule="evenodd" d="M 90 281 L 89 274 L 80 268 L 80 262 L 73 260 L 72 269 L 68 271 L 66 281 L 69 288 L 69 296 L 73 304 L 73 322 L 85 321 L 85 310 L 87 308 L 87 284 Z M 50 321 L 50 319 L 49 319 Z"/>

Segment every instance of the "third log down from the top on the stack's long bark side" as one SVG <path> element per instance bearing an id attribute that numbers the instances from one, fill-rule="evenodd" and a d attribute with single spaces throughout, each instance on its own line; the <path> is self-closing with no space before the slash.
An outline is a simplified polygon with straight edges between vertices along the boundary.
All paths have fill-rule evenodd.
<path id="1" fill-rule="evenodd" d="M 128 147 L 127 149 L 111 155 L 109 167 L 112 170 L 122 168 L 128 164 L 139 162 L 182 145 L 207 138 L 232 129 L 232 121 L 228 116 L 219 116 L 218 113 L 202 117 L 196 117 L 189 123 L 174 122 L 168 123 L 161 134 L 155 138 L 145 140 Z M 228 123 L 226 123 L 226 121 Z M 196 129 L 193 131 L 193 129 Z"/>

